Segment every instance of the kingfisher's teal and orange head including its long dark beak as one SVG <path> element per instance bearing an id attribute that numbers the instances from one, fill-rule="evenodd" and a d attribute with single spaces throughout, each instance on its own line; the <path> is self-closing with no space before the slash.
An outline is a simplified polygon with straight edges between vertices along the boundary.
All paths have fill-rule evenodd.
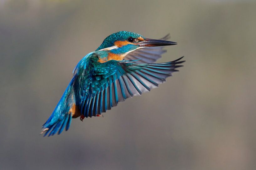
<path id="1" fill-rule="evenodd" d="M 128 53 L 140 48 L 176 44 L 176 42 L 172 41 L 145 38 L 135 32 L 119 31 L 108 36 L 96 51 L 108 52 L 108 57 L 100 61 L 106 62 L 109 60 L 123 60 Z"/>

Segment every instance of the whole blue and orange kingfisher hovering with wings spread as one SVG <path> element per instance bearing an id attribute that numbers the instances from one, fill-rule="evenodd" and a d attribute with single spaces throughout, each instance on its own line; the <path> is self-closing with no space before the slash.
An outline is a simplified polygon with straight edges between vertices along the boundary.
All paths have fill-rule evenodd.
<path id="1" fill-rule="evenodd" d="M 73 70 L 73 77 L 40 134 L 52 136 L 70 128 L 72 118 L 102 117 L 102 113 L 129 97 L 158 87 L 178 71 L 183 57 L 155 63 L 166 52 L 169 35 L 156 40 L 128 31 L 108 36 L 84 56 Z"/>

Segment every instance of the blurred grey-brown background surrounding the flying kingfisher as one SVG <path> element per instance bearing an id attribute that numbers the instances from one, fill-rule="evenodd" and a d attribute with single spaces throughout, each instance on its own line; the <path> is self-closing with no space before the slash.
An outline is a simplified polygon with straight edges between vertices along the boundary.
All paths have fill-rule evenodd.
<path id="1" fill-rule="evenodd" d="M 255 170 L 256 2 L 0 0 L 0 169 Z M 180 72 L 43 138 L 76 63 L 108 35 L 170 33 Z"/>

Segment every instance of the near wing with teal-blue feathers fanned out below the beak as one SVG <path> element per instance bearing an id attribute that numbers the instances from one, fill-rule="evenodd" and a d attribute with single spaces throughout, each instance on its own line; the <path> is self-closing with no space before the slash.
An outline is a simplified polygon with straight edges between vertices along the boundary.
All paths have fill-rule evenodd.
<path id="1" fill-rule="evenodd" d="M 97 71 L 92 73 L 93 79 L 97 80 L 92 86 L 98 90 L 94 94 L 78 99 L 81 114 L 85 117 L 96 116 L 116 106 L 118 102 L 150 91 L 165 82 L 166 77 L 178 71 L 176 68 L 181 67 L 179 64 L 184 62 L 180 61 L 182 58 L 157 64 L 116 60 L 102 63 L 105 65 L 102 67 L 103 70 L 112 69 L 106 72 L 97 68 Z"/>

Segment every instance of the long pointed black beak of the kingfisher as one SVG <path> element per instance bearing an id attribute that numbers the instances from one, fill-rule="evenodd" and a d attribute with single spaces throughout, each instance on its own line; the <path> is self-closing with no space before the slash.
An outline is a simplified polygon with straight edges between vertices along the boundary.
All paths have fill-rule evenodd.
<path id="1" fill-rule="evenodd" d="M 139 46 L 172 46 L 178 44 L 177 42 L 172 42 L 172 41 L 165 41 L 165 40 L 154 40 L 154 39 L 149 39 L 145 38 L 144 41 L 141 41 L 138 43 Z"/>

